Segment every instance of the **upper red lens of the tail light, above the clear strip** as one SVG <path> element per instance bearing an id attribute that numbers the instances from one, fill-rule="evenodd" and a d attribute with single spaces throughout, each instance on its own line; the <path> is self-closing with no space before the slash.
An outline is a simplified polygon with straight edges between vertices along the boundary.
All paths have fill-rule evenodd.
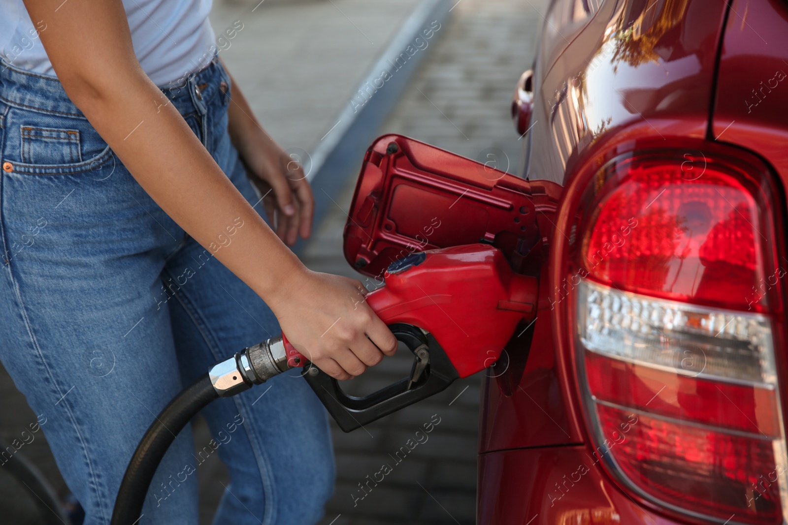
<path id="1" fill-rule="evenodd" d="M 760 309 L 760 297 L 750 298 L 764 279 L 758 202 L 730 166 L 703 158 L 689 170 L 689 162 L 615 165 L 608 176 L 618 186 L 599 203 L 582 262 L 593 278 L 627 290 Z"/>

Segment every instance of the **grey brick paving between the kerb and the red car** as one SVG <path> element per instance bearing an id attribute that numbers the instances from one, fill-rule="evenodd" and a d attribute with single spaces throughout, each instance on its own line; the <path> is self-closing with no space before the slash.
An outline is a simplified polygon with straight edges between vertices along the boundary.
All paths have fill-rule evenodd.
<path id="1" fill-rule="evenodd" d="M 378 135 L 409 135 L 519 172 L 522 141 L 511 124 L 511 93 L 520 73 L 532 65 L 545 3 L 461 0 Z M 303 260 L 310 268 L 359 277 L 341 252 L 354 187 L 355 177 L 307 246 Z M 392 361 L 378 365 L 385 370 L 374 368 L 353 379 L 352 390 L 369 393 L 407 375 L 411 358 L 406 353 Z M 480 386 L 481 374 L 461 379 L 350 434 L 333 426 L 336 494 L 322 525 L 475 523 Z M 392 456 L 432 417 L 440 424 L 397 463 Z M 391 473 L 377 486 L 367 484 L 383 465 Z"/>

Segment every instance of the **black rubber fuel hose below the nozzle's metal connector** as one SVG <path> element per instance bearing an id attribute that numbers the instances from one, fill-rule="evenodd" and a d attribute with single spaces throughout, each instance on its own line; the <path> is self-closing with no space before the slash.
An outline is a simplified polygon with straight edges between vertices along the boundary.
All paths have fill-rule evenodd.
<path id="1" fill-rule="evenodd" d="M 134 525 L 139 522 L 143 504 L 153 476 L 175 436 L 197 412 L 218 399 L 208 374 L 180 391 L 158 415 L 139 442 L 117 492 L 111 525 Z"/>

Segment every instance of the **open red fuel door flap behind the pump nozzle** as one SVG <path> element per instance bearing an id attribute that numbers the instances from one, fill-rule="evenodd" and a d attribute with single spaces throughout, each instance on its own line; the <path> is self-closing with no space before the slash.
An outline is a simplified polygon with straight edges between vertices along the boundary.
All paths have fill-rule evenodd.
<path id="1" fill-rule="evenodd" d="M 402 135 L 367 150 L 344 230 L 344 255 L 381 278 L 409 253 L 485 243 L 516 273 L 536 275 L 561 187 L 530 182 Z M 545 220 L 547 224 L 540 224 Z M 531 264 L 534 263 L 534 264 Z"/>

